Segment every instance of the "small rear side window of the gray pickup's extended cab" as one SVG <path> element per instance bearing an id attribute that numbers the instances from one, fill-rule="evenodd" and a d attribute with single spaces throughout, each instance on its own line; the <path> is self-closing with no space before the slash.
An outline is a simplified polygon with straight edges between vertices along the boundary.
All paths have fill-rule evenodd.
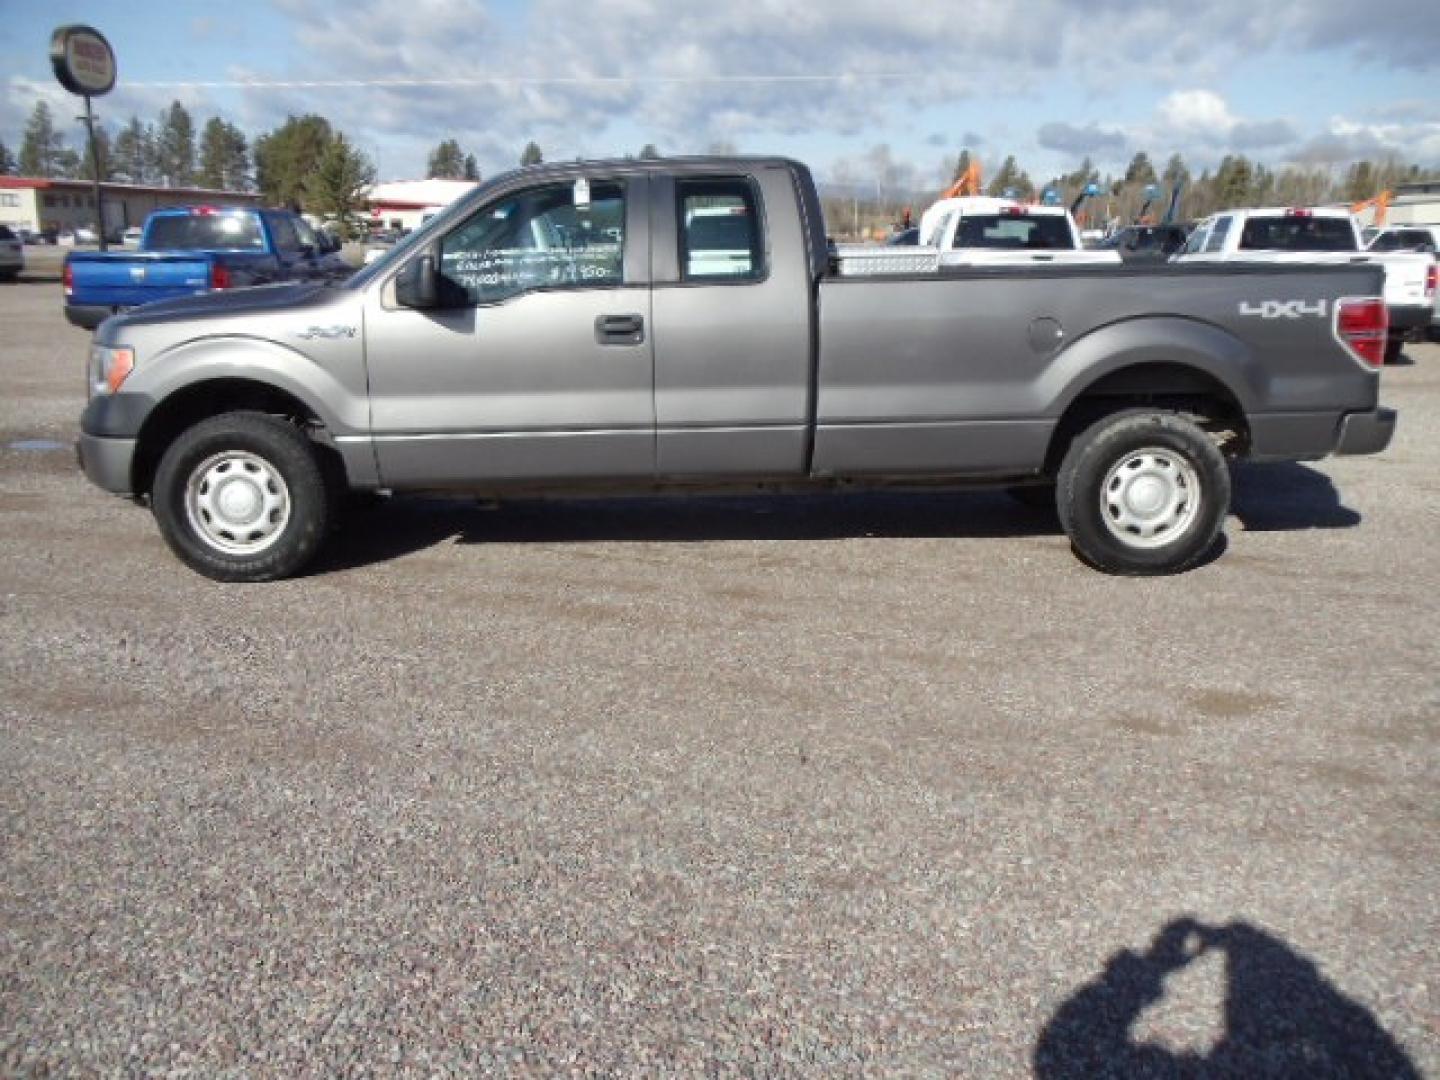
<path id="1" fill-rule="evenodd" d="M 677 180 L 681 281 L 760 281 L 765 238 L 755 184 L 744 177 Z"/>

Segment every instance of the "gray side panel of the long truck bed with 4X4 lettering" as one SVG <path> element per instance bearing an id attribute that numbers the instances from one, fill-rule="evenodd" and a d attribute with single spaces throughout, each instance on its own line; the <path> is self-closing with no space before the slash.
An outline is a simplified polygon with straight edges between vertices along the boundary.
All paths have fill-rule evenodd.
<path id="1" fill-rule="evenodd" d="M 827 276 L 812 471 L 1035 471 L 1070 400 L 1140 363 L 1185 364 L 1230 387 L 1254 456 L 1326 445 L 1344 412 L 1377 396 L 1326 305 L 1380 288 L 1374 264 Z M 1325 314 L 1266 318 L 1266 298 Z"/>

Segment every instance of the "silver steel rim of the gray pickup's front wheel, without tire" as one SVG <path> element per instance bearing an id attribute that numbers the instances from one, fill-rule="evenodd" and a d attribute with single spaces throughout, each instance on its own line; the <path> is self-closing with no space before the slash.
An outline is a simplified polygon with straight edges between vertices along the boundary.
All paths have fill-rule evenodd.
<path id="1" fill-rule="evenodd" d="M 225 451 L 202 461 L 186 482 L 184 508 L 196 536 L 226 554 L 258 554 L 289 523 L 289 488 L 265 458 Z"/>

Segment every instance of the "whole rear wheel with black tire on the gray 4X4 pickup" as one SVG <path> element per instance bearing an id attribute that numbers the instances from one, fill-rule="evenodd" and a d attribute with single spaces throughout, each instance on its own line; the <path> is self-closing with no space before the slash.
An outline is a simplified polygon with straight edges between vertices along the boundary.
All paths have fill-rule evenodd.
<path id="1" fill-rule="evenodd" d="M 1230 513 L 1230 468 L 1172 412 L 1128 409 L 1081 432 L 1056 504 L 1076 553 L 1117 575 L 1179 573 L 1202 560 Z"/>

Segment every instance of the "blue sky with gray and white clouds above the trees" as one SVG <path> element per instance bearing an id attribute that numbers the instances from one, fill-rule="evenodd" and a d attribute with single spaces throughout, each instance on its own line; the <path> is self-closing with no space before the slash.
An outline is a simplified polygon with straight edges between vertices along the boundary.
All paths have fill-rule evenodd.
<path id="1" fill-rule="evenodd" d="M 831 179 L 917 186 L 962 145 L 988 171 L 1015 154 L 1037 180 L 1086 154 L 1120 171 L 1136 150 L 1158 163 L 1182 153 L 1197 171 L 1236 151 L 1440 166 L 1437 0 L 1368 3 L 1364 16 L 1352 0 L 0 6 L 0 140 L 12 151 L 36 99 L 63 120 L 78 111 L 46 48 L 55 26 L 79 22 L 118 55 L 117 89 L 98 102 L 107 121 L 153 120 L 179 98 L 253 135 L 314 111 L 386 179 L 419 176 L 449 137 L 487 173 L 534 138 L 547 157 L 734 147 L 801 157 Z M 461 82 L 373 85 L 436 78 Z M 297 81 L 363 85 L 268 85 Z"/>

